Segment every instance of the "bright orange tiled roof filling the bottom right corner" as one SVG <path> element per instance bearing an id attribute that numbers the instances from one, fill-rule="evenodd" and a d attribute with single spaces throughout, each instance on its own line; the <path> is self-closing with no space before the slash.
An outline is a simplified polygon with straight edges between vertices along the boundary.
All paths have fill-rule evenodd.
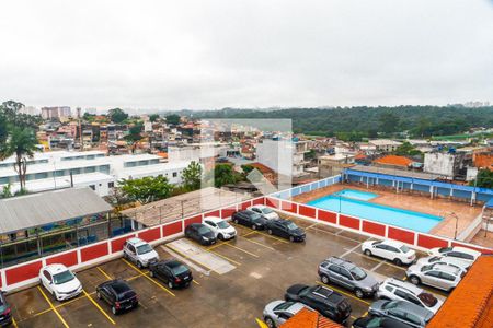
<path id="1" fill-rule="evenodd" d="M 426 327 L 493 327 L 492 255 L 479 257 Z"/>

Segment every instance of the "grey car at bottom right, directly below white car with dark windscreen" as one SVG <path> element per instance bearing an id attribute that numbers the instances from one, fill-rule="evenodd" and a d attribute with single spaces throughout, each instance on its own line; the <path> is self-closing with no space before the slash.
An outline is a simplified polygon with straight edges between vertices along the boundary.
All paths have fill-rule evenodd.
<path id="1" fill-rule="evenodd" d="M 433 317 L 433 312 L 406 301 L 379 300 L 371 303 L 368 313 L 389 317 L 411 327 L 425 327 Z"/>

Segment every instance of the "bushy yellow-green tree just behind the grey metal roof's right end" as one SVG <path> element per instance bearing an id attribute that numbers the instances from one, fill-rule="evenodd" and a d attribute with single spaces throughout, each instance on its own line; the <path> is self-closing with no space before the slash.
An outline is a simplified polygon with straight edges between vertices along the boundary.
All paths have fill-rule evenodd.
<path id="1" fill-rule="evenodd" d="M 144 177 L 139 179 L 122 179 L 118 187 L 133 201 L 148 203 L 171 196 L 173 186 L 165 176 Z"/>

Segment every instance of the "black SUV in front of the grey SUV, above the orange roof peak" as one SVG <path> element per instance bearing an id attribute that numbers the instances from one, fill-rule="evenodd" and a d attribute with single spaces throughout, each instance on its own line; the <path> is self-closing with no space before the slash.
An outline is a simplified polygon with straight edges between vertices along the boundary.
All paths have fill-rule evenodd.
<path id="1" fill-rule="evenodd" d="M 345 323 L 351 315 L 351 304 L 340 293 L 322 285 L 295 284 L 287 289 L 286 301 L 300 302 L 336 323 Z"/>

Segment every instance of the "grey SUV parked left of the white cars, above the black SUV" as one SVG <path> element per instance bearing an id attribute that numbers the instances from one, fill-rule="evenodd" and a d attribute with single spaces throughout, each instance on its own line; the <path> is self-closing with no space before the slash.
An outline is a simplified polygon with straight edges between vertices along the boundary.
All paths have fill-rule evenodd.
<path id="1" fill-rule="evenodd" d="M 353 291 L 357 297 L 372 296 L 378 291 L 378 281 L 354 265 L 339 257 L 330 257 L 319 266 L 320 280 L 339 284 Z"/>

